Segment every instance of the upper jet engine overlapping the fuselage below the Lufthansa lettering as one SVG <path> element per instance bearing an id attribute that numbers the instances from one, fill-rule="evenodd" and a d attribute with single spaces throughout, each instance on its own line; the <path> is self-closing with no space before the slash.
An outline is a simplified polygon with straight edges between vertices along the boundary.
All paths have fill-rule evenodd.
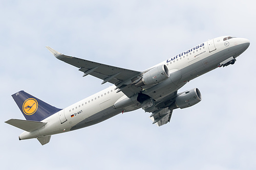
<path id="1" fill-rule="evenodd" d="M 150 69 L 142 75 L 142 78 L 135 84 L 140 87 L 144 85 L 156 85 L 169 78 L 169 70 L 166 65 L 159 65 Z"/>

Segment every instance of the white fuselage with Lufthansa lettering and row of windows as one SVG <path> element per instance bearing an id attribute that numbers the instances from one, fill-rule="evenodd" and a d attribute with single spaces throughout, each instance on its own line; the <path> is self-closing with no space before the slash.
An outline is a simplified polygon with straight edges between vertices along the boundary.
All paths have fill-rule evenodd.
<path id="1" fill-rule="evenodd" d="M 208 40 L 155 65 L 165 64 L 170 78 L 151 88 L 144 89 L 143 93 L 151 96 L 155 101 L 161 101 L 188 81 L 217 68 L 220 63 L 230 57 L 238 57 L 248 47 L 247 39 L 231 38 L 224 41 L 225 37 L 228 36 Z M 117 93 L 115 88 L 116 86 L 113 85 L 47 117 L 41 121 L 47 122 L 44 127 L 33 132 L 25 131 L 19 138 L 29 139 L 68 132 L 97 124 L 122 111 L 140 108 L 137 106 L 129 110 L 115 109 L 113 105 L 120 98 L 126 97 L 122 91 Z"/>

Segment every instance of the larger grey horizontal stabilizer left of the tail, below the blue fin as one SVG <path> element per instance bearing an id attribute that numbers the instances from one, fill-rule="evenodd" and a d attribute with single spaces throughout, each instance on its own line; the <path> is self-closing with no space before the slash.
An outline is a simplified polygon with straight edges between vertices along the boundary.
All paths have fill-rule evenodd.
<path id="1" fill-rule="evenodd" d="M 27 132 L 32 132 L 36 129 L 39 129 L 47 124 L 47 122 L 36 122 L 32 120 L 20 120 L 20 119 L 10 119 L 5 123 L 15 126 L 19 129 L 25 130 Z"/>

